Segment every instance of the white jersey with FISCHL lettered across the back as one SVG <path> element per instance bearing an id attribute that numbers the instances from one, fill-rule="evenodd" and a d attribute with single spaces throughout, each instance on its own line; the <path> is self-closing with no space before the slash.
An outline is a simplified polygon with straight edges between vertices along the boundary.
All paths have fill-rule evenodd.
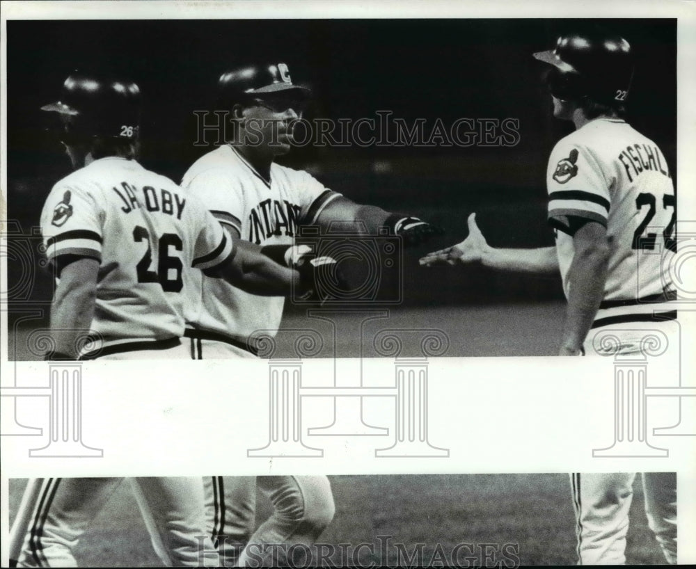
<path id="1" fill-rule="evenodd" d="M 574 256 L 572 218 L 607 228 L 608 273 L 595 326 L 673 310 L 661 301 L 674 291 L 664 257 L 674 255 L 677 202 L 657 145 L 624 120 L 592 120 L 555 145 L 546 180 L 566 296 Z"/>

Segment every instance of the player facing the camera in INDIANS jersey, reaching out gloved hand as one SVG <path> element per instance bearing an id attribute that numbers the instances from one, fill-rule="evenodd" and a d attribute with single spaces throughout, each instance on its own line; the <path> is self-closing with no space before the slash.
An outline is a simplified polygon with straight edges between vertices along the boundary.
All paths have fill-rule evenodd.
<path id="1" fill-rule="evenodd" d="M 217 110 L 229 111 L 237 128 L 229 143 L 198 159 L 182 187 L 197 195 L 235 239 L 251 241 L 279 262 L 289 262 L 300 225 L 361 221 L 377 234 L 391 227 L 406 243 L 418 243 L 439 230 L 406 215 L 358 205 L 324 187 L 314 177 L 274 162 L 292 145 L 290 122 L 301 116 L 310 91 L 292 83 L 285 63 L 252 65 L 222 74 Z M 195 289 L 193 289 L 195 291 Z M 256 330 L 278 330 L 285 299 L 260 298 L 202 278 L 200 313 L 191 314 L 187 336 L 193 358 L 250 357 Z M 272 545 L 313 543 L 334 513 L 326 476 L 261 476 L 258 486 L 274 513 L 251 536 L 255 481 L 244 477 L 206 480 L 209 528 L 219 539 L 221 559 L 240 566 L 280 562 Z M 237 558 L 238 550 L 246 548 Z"/>

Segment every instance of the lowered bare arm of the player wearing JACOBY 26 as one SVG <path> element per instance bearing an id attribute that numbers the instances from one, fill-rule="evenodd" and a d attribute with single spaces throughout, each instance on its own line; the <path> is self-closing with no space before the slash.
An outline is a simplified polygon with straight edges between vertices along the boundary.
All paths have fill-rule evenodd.
<path id="1" fill-rule="evenodd" d="M 54 349 L 47 358 L 77 360 L 78 342 L 90 330 L 97 296 L 99 262 L 77 257 L 65 264 L 51 306 L 51 336 Z"/>

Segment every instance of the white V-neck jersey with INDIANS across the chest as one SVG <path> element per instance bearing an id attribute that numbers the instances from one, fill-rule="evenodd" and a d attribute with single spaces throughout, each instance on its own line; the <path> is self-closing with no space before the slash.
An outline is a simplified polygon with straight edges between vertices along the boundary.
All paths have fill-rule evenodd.
<path id="1" fill-rule="evenodd" d="M 264 179 L 235 148 L 223 145 L 193 163 L 182 187 L 197 195 L 224 225 L 260 246 L 292 245 L 299 225 L 315 223 L 340 194 L 302 170 L 271 164 Z M 205 278 L 191 289 L 187 319 L 198 330 L 246 346 L 255 330 L 278 330 L 283 297 L 248 294 L 226 282 Z M 200 307 L 196 314 L 193 307 Z"/>

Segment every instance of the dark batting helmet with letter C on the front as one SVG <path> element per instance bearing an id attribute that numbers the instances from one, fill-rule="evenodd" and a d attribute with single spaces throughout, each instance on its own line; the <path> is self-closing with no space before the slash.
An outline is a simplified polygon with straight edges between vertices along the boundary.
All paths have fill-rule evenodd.
<path id="1" fill-rule="evenodd" d="M 311 91 L 292 83 L 285 63 L 250 65 L 223 73 L 218 81 L 219 106 L 231 106 L 250 98 L 283 97 L 306 101 Z"/>

